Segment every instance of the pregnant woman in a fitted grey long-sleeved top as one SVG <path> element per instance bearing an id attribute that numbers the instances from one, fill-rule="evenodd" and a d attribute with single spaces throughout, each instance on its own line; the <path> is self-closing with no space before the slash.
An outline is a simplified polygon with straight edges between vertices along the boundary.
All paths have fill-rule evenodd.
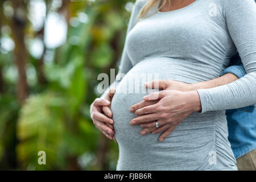
<path id="1" fill-rule="evenodd" d="M 236 170 L 225 109 L 256 102 L 255 2 L 170 2 L 171 6 L 168 1 L 137 1 L 131 14 L 119 67 L 119 76 L 126 75 L 116 81 L 118 86 L 111 102 L 119 144 L 117 169 Z M 130 106 L 158 91 L 145 92 L 145 75 L 146 81 L 156 77 L 188 84 L 212 80 L 221 76 L 237 52 L 247 75 L 217 88 L 184 92 L 188 100 L 199 100 L 201 105 L 163 142 L 158 140 L 160 134 L 142 136 L 141 126 L 131 126 L 130 121 L 137 115 L 130 112 Z M 93 106 L 110 104 L 101 102 L 98 99 Z M 91 114 L 95 118 L 93 111 Z M 109 119 L 108 123 L 113 121 Z"/>

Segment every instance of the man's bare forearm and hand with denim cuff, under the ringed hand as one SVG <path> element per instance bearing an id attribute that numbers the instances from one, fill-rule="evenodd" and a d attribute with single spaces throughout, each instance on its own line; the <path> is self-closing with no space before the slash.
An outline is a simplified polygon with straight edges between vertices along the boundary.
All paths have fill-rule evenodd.
<path id="1" fill-rule="evenodd" d="M 245 75 L 245 71 L 242 65 L 234 65 L 230 66 L 227 69 L 225 69 L 224 75 L 218 78 L 215 78 L 210 81 L 204 81 L 204 82 L 199 82 L 196 84 L 185 84 L 184 82 L 179 82 L 179 81 L 173 81 L 173 80 L 155 80 L 152 82 L 147 82 L 145 86 L 147 88 L 155 88 L 158 86 L 160 89 L 163 90 L 180 90 L 180 91 L 191 91 L 191 90 L 196 90 L 196 89 L 206 89 L 206 88 L 214 88 L 216 86 L 221 86 L 228 84 L 230 82 L 236 81 L 238 78 L 242 77 Z M 142 101 L 139 102 L 138 104 L 135 104 L 134 106 L 131 106 L 130 110 L 132 112 L 136 112 L 137 110 L 142 109 L 143 107 L 146 107 L 148 105 L 153 105 L 158 103 L 158 101 Z M 182 122 L 185 118 L 187 118 L 191 113 L 184 113 L 183 115 L 179 115 L 178 117 L 175 118 L 175 122 L 171 123 L 166 123 L 165 125 L 159 127 L 158 129 L 155 128 L 155 123 L 142 123 L 141 127 L 144 127 L 144 129 L 141 130 L 142 135 L 146 135 L 148 133 L 162 133 L 160 135 L 159 140 L 162 141 L 165 138 L 168 137 L 168 135 L 171 134 L 171 132 L 176 128 L 177 125 L 179 125 L 180 122 Z M 171 117 L 168 117 L 171 119 Z M 144 118 L 143 118 L 144 119 Z"/>

